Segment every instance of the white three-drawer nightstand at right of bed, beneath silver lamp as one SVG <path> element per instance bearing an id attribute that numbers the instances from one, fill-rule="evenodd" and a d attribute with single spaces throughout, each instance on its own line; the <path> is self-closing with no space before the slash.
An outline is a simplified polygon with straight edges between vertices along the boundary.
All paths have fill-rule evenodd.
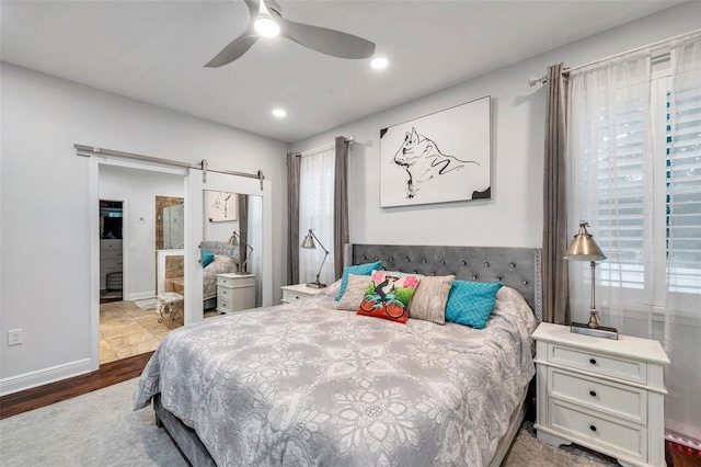
<path id="1" fill-rule="evenodd" d="M 619 340 L 541 323 L 537 341 L 538 440 L 576 443 L 622 465 L 665 466 L 664 367 L 657 341 Z"/>

